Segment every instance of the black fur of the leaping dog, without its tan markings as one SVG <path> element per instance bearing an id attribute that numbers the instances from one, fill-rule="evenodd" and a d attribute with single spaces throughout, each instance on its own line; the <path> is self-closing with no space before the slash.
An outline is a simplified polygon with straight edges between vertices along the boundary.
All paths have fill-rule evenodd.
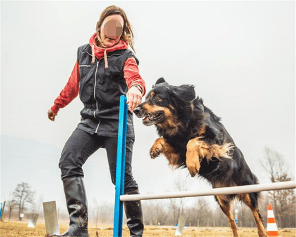
<path id="1" fill-rule="evenodd" d="M 153 100 L 150 96 L 152 91 L 161 100 Z M 197 137 L 196 133 L 203 125 L 206 125 L 206 129 L 202 140 L 209 144 L 234 144 L 233 139 L 220 122 L 220 118 L 204 105 L 201 98 L 195 98 L 192 85 L 172 86 L 160 78 L 153 89 L 147 93 L 146 100 L 134 110 L 138 117 L 144 116 L 144 111 L 141 109 L 144 104 L 168 108 L 172 114 L 178 117 L 180 126 L 178 133 L 174 135 L 167 133 L 167 129 L 159 124 L 155 125 L 159 136 L 165 138 L 171 147 L 174 147 L 180 154 L 179 167 L 186 168 L 186 145 L 189 140 Z M 192 105 L 193 109 L 191 109 Z M 258 183 L 256 176 L 246 164 L 242 152 L 236 146 L 232 151 L 232 159 L 219 159 L 219 157 L 213 157 L 211 161 L 203 159 L 198 176 L 208 180 L 213 187 L 221 182 L 225 186 Z M 250 196 L 254 206 L 257 206 L 258 195 L 258 193 L 254 193 Z M 231 197 L 234 198 L 235 195 Z"/>

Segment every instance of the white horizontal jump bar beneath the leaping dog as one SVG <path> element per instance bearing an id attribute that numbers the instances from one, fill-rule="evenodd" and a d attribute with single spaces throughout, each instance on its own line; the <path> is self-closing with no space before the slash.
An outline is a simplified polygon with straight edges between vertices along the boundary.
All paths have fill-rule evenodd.
<path id="1" fill-rule="evenodd" d="M 219 187 L 219 188 L 213 188 L 210 190 L 197 191 L 197 192 L 121 195 L 120 201 L 137 201 L 137 200 L 147 200 L 147 199 L 185 198 L 185 197 L 199 197 L 199 196 L 211 196 L 211 195 L 244 194 L 244 193 L 257 193 L 261 191 L 278 190 L 278 189 L 289 189 L 289 188 L 296 188 L 295 181 L 253 184 L 253 185 L 232 186 L 232 187 Z"/>

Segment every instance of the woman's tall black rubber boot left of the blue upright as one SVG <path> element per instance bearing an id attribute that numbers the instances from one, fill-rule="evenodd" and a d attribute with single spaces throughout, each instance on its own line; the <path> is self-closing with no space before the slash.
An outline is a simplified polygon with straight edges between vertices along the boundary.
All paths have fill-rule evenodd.
<path id="1" fill-rule="evenodd" d="M 72 177 L 64 179 L 63 184 L 70 218 L 69 229 L 63 234 L 52 234 L 49 236 L 89 237 L 87 230 L 87 200 L 83 178 Z"/>

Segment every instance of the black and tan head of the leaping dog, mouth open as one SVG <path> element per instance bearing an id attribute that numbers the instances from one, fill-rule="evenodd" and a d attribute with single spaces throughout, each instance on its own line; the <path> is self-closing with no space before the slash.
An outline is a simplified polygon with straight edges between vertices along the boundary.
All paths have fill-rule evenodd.
<path id="1" fill-rule="evenodd" d="M 146 126 L 178 127 L 179 114 L 195 99 L 192 85 L 172 86 L 159 78 L 134 113 Z"/>

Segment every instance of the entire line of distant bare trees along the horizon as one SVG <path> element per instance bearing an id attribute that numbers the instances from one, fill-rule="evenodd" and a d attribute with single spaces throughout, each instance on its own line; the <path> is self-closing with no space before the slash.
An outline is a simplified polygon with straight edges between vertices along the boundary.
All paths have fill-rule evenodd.
<path id="1" fill-rule="evenodd" d="M 261 159 L 262 172 L 268 174 L 270 182 L 290 181 L 288 165 L 281 154 L 270 149 L 264 149 L 264 157 Z M 182 179 L 175 181 L 174 191 L 186 191 L 186 182 Z M 17 184 L 10 200 L 6 201 L 5 216 L 11 218 L 13 210 L 17 210 L 17 217 L 21 220 L 20 214 L 30 212 L 43 216 L 42 201 L 40 196 L 34 201 L 35 192 L 28 183 Z M 228 226 L 225 214 L 218 204 L 211 205 L 205 198 L 194 198 L 195 202 L 188 205 L 186 198 L 145 200 L 142 201 L 143 217 L 145 225 L 176 225 L 181 216 L 186 217 L 186 223 L 191 226 Z M 285 189 L 261 193 L 259 199 L 259 210 L 263 221 L 267 220 L 267 205 L 271 203 L 274 208 L 279 228 L 296 226 L 295 189 Z M 238 227 L 255 227 L 251 210 L 239 201 L 234 202 L 233 215 L 237 217 Z M 237 215 L 234 210 L 237 209 Z M 112 224 L 114 214 L 113 203 L 100 203 L 94 200 L 94 205 L 89 205 L 89 222 L 97 224 Z M 8 217 L 7 217 L 8 216 Z M 60 211 L 59 220 L 68 221 L 66 210 Z M 125 221 L 125 220 L 124 220 Z"/>

